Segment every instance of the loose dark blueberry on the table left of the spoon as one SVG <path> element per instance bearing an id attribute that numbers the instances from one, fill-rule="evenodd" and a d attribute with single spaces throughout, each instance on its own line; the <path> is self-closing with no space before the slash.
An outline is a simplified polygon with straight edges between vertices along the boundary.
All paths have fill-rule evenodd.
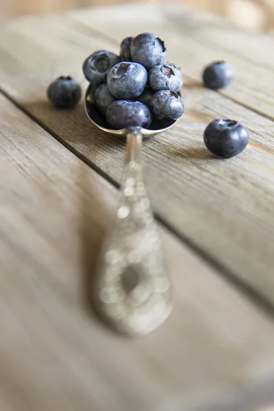
<path id="1" fill-rule="evenodd" d="M 73 108 L 82 97 L 81 87 L 70 76 L 58 77 L 47 88 L 49 100 L 60 108 Z"/>

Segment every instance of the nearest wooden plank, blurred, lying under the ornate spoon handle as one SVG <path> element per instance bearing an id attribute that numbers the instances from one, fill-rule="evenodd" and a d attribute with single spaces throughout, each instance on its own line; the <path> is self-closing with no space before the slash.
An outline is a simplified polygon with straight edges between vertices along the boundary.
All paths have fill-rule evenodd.
<path id="1" fill-rule="evenodd" d="M 0 97 L 1 411 L 251 410 L 273 322 L 162 228 L 175 310 L 140 340 L 88 309 L 116 189 Z"/>

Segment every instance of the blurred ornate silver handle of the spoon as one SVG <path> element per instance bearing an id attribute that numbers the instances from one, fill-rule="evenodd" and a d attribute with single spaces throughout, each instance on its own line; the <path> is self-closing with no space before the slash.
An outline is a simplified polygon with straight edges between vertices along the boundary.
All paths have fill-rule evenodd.
<path id="1" fill-rule="evenodd" d="M 103 245 L 95 287 L 99 314 L 129 336 L 157 328 L 172 309 L 171 282 L 142 175 L 141 146 L 140 130 L 129 129 L 122 198 Z"/>

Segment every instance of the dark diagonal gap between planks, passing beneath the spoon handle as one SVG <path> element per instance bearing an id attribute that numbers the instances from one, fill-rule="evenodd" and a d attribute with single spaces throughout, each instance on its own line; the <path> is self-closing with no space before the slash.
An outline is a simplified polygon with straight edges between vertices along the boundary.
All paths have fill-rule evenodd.
<path id="1" fill-rule="evenodd" d="M 79 160 L 82 160 L 85 164 L 87 164 L 91 169 L 93 169 L 95 172 L 97 172 L 99 175 L 101 175 L 104 179 L 106 179 L 110 184 L 112 184 L 116 188 L 120 188 L 120 184 L 116 182 L 114 179 L 112 179 L 107 173 L 99 169 L 98 166 L 93 164 L 88 158 L 86 158 L 82 153 L 79 153 L 79 151 L 75 150 L 71 145 L 66 143 L 58 134 L 53 132 L 45 123 L 40 121 L 39 119 L 36 118 L 33 114 L 29 113 L 23 106 L 18 103 L 16 100 L 14 100 L 10 95 L 8 95 L 7 92 L 5 92 L 1 87 L 0 87 L 0 92 L 3 96 L 5 96 L 6 99 L 11 101 L 16 108 L 21 110 L 25 115 L 29 117 L 29 119 L 32 119 L 34 123 L 38 124 L 42 129 L 45 129 L 47 133 L 49 133 L 55 140 L 58 140 L 60 144 L 62 144 L 66 149 L 69 149 L 71 153 L 77 156 Z M 158 213 L 154 213 L 155 218 L 159 221 L 160 224 L 162 224 L 166 229 L 169 230 L 173 235 L 175 235 L 180 241 L 184 242 L 184 245 L 186 245 L 190 250 L 195 252 L 200 258 L 202 258 L 206 263 L 210 264 L 212 268 L 216 269 L 218 273 L 221 275 L 225 281 L 236 288 L 240 294 L 244 295 L 254 303 L 266 316 L 268 316 L 271 321 L 274 320 L 274 307 L 271 302 L 269 302 L 267 299 L 264 299 L 264 297 L 258 292 L 256 289 L 254 289 L 252 286 L 249 286 L 249 284 L 246 284 L 244 280 L 238 278 L 232 271 L 229 271 L 221 262 L 215 260 L 212 256 L 210 256 L 206 251 L 204 251 L 201 247 L 195 244 L 195 242 L 192 242 L 189 238 L 184 236 L 184 234 L 180 233 L 177 231 L 175 227 L 170 225 L 168 222 L 164 221 L 162 217 Z"/>

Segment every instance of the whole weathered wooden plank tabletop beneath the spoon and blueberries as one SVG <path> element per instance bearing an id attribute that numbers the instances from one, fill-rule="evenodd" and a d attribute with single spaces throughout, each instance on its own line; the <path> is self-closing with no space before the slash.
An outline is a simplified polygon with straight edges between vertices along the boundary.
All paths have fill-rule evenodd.
<path id="1" fill-rule="evenodd" d="M 182 66 L 186 113 L 146 140 L 147 184 L 175 310 L 139 340 L 89 309 L 125 145 L 83 104 L 55 110 L 49 82 L 138 32 Z M 169 3 L 27 16 L 0 35 L 0 410 L 228 411 L 274 408 L 274 41 Z M 222 58 L 233 86 L 201 86 Z M 203 145 L 215 118 L 249 129 L 229 160 Z"/>

